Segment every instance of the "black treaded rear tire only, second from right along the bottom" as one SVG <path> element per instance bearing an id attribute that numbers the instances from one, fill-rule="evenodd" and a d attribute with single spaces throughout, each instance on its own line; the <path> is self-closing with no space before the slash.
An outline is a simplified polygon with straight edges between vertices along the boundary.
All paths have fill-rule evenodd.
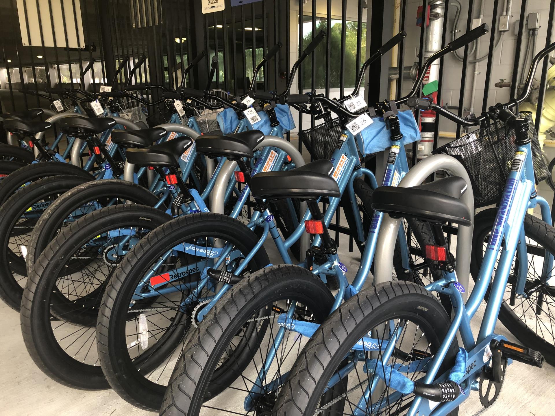
<path id="1" fill-rule="evenodd" d="M 241 324 L 241 318 L 250 316 L 259 304 L 268 305 L 274 298 L 289 296 L 309 306 L 317 321 L 327 316 L 334 301 L 319 278 L 298 266 L 271 266 L 241 281 L 206 315 L 198 331 L 190 334 L 175 364 L 160 416 L 198 414 L 208 390 L 209 373 L 220 356 L 219 350 L 233 336 L 234 325 Z"/>

